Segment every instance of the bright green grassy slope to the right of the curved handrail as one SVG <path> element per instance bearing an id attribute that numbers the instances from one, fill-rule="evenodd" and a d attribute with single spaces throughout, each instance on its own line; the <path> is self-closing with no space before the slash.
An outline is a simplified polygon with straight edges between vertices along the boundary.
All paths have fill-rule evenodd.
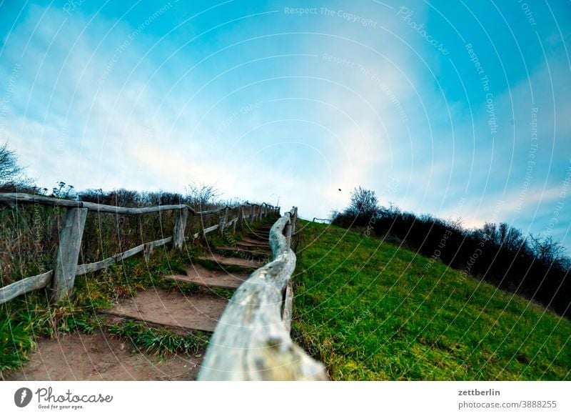
<path id="1" fill-rule="evenodd" d="M 571 322 L 379 239 L 300 222 L 292 337 L 333 380 L 571 380 Z"/>

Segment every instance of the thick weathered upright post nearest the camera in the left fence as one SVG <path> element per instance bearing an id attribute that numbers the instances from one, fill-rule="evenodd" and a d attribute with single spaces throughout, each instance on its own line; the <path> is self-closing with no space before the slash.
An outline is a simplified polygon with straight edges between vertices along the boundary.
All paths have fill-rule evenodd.
<path id="1" fill-rule="evenodd" d="M 84 234 L 87 208 L 71 208 L 66 213 L 64 227 L 59 234 L 59 247 L 54 269 L 53 299 L 59 301 L 71 294 L 76 280 L 77 260 Z"/>

